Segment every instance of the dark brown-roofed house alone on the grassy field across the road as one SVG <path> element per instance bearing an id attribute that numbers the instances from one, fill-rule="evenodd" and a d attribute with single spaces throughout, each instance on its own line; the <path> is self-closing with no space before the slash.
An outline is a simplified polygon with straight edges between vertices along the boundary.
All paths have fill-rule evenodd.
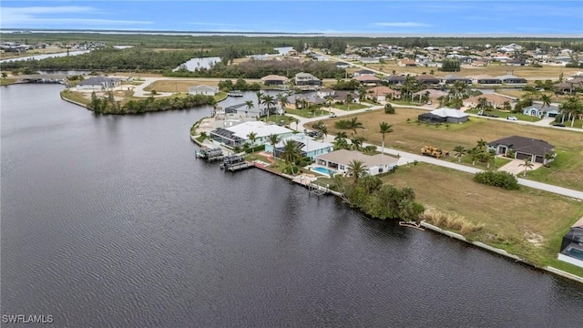
<path id="1" fill-rule="evenodd" d="M 555 156 L 555 146 L 547 141 L 520 136 L 499 138 L 488 142 L 488 149 L 494 149 L 496 154 L 506 157 L 513 151 L 514 159 L 530 159 L 533 163 L 545 165 L 553 161 Z M 545 159 L 545 154 L 551 154 L 553 158 Z"/>

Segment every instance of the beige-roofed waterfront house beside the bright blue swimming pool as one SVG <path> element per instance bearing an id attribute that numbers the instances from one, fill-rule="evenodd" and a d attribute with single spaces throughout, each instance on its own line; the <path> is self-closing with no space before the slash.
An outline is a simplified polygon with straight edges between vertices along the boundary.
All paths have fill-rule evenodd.
<path id="1" fill-rule="evenodd" d="M 353 160 L 361 160 L 366 166 L 366 174 L 377 175 L 386 173 L 397 166 L 398 159 L 386 155 L 364 155 L 360 151 L 338 149 L 326 154 L 318 155 L 315 158 L 316 164 L 328 169 L 334 169 L 341 174 L 348 173 L 348 167 Z"/>

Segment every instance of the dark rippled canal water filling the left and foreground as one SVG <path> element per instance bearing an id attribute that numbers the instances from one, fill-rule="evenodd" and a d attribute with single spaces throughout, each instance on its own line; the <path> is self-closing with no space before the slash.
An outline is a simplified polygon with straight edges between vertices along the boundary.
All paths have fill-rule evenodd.
<path id="1" fill-rule="evenodd" d="M 578 283 L 195 159 L 189 127 L 210 108 L 96 117 L 60 89 L 0 88 L 3 315 L 56 327 L 583 322 Z"/>

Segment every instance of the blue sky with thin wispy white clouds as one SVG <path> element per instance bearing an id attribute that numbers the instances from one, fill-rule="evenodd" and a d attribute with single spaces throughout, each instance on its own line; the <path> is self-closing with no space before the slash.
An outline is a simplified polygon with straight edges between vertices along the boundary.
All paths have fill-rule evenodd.
<path id="1" fill-rule="evenodd" d="M 583 37 L 583 1 L 2 0 L 0 28 Z"/>

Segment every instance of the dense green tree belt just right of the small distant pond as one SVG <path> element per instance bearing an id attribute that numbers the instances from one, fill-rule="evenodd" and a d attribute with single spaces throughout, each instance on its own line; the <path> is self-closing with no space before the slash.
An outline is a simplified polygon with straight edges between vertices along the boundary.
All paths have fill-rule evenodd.
<path id="1" fill-rule="evenodd" d="M 342 78 L 344 69 L 336 67 L 332 62 L 317 62 L 300 60 L 250 60 L 240 65 L 224 65 L 217 63 L 210 69 L 199 68 L 194 72 L 187 69 L 179 69 L 176 72 L 166 71 L 165 77 L 242 77 L 261 78 L 270 74 L 284 77 L 294 77 L 297 73 L 306 72 L 319 78 Z"/>

